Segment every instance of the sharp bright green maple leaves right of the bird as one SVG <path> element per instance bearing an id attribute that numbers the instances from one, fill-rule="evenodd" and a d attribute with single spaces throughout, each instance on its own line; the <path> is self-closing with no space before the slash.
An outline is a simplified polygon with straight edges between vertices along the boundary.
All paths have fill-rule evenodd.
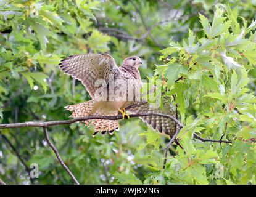
<path id="1" fill-rule="evenodd" d="M 199 14 L 204 35 L 196 41 L 189 30 L 187 42 L 171 42 L 170 54 L 165 50 L 161 57 L 170 59 L 168 55 L 172 55 L 175 61 L 170 60 L 168 67 L 180 65 L 188 70 L 164 73 L 171 79 L 167 87 L 176 94 L 185 125 L 178 135 L 184 150 L 178 148 L 175 158 L 169 158 L 163 175 L 167 183 L 255 183 L 256 171 L 247 168 L 248 163 L 256 164 L 247 160 L 256 153 L 255 145 L 250 143 L 255 137 L 252 108 L 256 100 L 248 74 L 254 69 L 255 58 L 244 55 L 256 49 L 252 39 L 254 22 L 248 27 L 239 25 L 236 12 L 217 5 L 212 24 Z M 174 74 L 183 80 L 173 84 Z M 210 139 L 225 135 L 233 145 L 221 148 L 219 144 L 195 142 L 195 132 Z"/>

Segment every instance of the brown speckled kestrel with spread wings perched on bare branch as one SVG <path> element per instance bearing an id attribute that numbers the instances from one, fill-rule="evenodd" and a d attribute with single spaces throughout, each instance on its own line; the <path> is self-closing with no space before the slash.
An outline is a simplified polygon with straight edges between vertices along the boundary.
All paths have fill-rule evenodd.
<path id="1" fill-rule="evenodd" d="M 120 112 L 129 118 L 125 108 L 139 104 L 141 77 L 139 66 L 142 61 L 137 56 L 125 58 L 120 67 L 115 63 L 114 58 L 109 54 L 81 54 L 70 55 L 59 64 L 60 69 L 75 79 L 78 79 L 85 86 L 91 100 L 75 105 L 68 105 L 65 108 L 73 111 L 71 117 L 84 117 L 88 115 L 116 116 Z M 149 103 L 134 105 L 129 108 L 130 113 L 165 113 L 173 115 L 170 105 L 163 103 L 163 109 L 152 108 Z M 175 133 L 176 125 L 171 119 L 161 116 L 140 117 L 153 129 L 165 132 L 168 135 Z M 83 121 L 86 126 L 94 125 L 94 135 L 98 132 L 113 134 L 118 131 L 118 120 L 93 119 Z"/>

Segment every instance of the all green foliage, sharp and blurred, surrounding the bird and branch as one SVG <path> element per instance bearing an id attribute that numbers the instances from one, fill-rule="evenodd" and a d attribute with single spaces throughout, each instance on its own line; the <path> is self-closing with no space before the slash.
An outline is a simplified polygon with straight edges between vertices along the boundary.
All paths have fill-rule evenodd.
<path id="1" fill-rule="evenodd" d="M 78 181 L 255 184 L 255 2 L 133 2 L 1 1 L 0 121 L 68 119 L 65 105 L 89 100 L 81 83 L 56 66 L 68 55 L 108 52 L 118 64 L 138 55 L 142 79 L 164 79 L 164 96 L 176 95 L 184 149 L 173 145 L 162 169 L 168 137 L 139 119 L 120 121 L 119 132 L 94 138 L 93 129 L 79 124 L 49 127 Z M 201 142 L 194 133 L 233 143 Z M 72 183 L 36 127 L 0 131 L 6 183 L 30 182 L 2 135 L 28 167 L 39 165 L 35 183 Z"/>

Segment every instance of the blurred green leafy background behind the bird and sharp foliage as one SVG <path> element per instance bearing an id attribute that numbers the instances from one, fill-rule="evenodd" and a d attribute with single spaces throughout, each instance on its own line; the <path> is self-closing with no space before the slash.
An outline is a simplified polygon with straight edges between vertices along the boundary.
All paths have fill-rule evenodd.
<path id="1" fill-rule="evenodd" d="M 249 24 L 256 18 L 255 0 L 0 1 L 0 122 L 68 119 L 65 105 L 89 100 L 81 82 L 60 73 L 57 64 L 68 55 L 107 52 L 118 65 L 138 55 L 144 61 L 141 77 L 152 78 L 155 65 L 163 64 L 160 50 L 170 39 L 186 38 L 188 28 L 201 36 L 198 14 L 212 22 L 217 3 L 237 6 Z M 255 70 L 251 74 L 256 76 Z M 167 136 L 136 118 L 120 125 L 114 135 L 94 138 L 93 128 L 79 124 L 48 131 L 80 183 L 197 183 L 168 182 L 168 175 L 161 176 Z M 28 168 L 39 165 L 38 179 L 31 182 L 17 155 Z M 0 179 L 7 184 L 72 183 L 47 146 L 43 129 L 36 127 L 0 132 Z"/>

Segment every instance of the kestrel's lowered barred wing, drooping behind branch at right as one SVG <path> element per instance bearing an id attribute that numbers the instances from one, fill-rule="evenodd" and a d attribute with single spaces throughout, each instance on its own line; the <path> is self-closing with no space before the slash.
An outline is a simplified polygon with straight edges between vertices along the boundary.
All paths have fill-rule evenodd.
<path id="1" fill-rule="evenodd" d="M 139 105 L 134 105 L 128 109 L 129 113 L 162 113 L 166 115 L 175 116 L 171 105 L 168 102 L 163 101 L 163 108 L 152 107 L 149 103 L 141 103 Z M 152 129 L 157 129 L 159 132 L 164 132 L 171 137 L 175 134 L 176 124 L 170 118 L 164 118 L 162 116 L 141 116 L 139 117 L 142 121 L 146 122 L 148 126 Z"/>

